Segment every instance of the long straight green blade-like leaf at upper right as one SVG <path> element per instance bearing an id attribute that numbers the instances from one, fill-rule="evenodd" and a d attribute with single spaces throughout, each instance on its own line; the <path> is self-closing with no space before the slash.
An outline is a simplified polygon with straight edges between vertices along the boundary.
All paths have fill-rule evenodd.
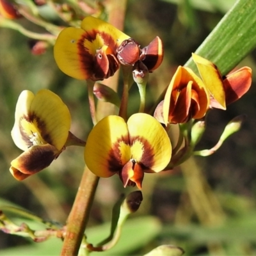
<path id="1" fill-rule="evenodd" d="M 225 75 L 255 47 L 255 0 L 240 0 L 221 19 L 195 53 L 212 61 L 221 74 Z M 185 66 L 196 72 L 192 58 Z"/>

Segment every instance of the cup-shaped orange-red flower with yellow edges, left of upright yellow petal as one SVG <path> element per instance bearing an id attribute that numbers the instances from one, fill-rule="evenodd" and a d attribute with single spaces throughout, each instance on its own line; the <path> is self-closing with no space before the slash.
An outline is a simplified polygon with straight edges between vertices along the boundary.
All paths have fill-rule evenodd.
<path id="1" fill-rule="evenodd" d="M 191 118 L 202 118 L 208 107 L 209 94 L 203 81 L 190 68 L 179 66 L 155 116 L 165 125 L 182 124 Z"/>

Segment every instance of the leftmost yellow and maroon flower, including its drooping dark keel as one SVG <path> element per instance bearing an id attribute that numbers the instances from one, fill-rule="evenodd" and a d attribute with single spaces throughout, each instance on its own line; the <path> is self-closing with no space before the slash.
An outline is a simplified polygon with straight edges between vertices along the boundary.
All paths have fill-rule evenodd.
<path id="1" fill-rule="evenodd" d="M 55 93 L 20 93 L 12 138 L 24 152 L 11 163 L 13 177 L 23 180 L 49 166 L 64 148 L 70 123 L 68 108 Z"/>

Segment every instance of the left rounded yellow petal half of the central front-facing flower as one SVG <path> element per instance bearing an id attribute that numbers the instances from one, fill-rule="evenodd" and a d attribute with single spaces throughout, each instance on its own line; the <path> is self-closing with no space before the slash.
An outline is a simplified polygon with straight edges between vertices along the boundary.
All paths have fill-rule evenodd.
<path id="1" fill-rule="evenodd" d="M 110 177 L 131 159 L 127 124 L 120 116 L 106 116 L 93 127 L 84 149 L 88 168 L 99 177 Z"/>

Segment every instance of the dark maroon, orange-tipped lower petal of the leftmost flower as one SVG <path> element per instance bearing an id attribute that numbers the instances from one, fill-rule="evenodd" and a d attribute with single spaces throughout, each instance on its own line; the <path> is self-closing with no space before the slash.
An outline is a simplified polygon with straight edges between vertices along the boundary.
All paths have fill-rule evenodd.
<path id="1" fill-rule="evenodd" d="M 59 154 L 60 152 L 49 144 L 33 146 L 12 161 L 10 172 L 15 179 L 24 180 L 44 170 Z"/>

